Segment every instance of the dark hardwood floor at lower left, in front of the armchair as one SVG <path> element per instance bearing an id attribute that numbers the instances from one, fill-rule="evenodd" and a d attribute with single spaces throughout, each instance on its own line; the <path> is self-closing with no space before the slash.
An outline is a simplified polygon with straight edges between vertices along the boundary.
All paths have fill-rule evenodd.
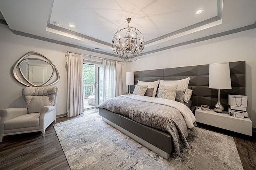
<path id="1" fill-rule="evenodd" d="M 4 137 L 0 143 L 0 169 L 42 169 L 44 166 L 70 169 L 53 125 L 46 129 L 44 137 L 42 133 L 26 133 Z"/>

